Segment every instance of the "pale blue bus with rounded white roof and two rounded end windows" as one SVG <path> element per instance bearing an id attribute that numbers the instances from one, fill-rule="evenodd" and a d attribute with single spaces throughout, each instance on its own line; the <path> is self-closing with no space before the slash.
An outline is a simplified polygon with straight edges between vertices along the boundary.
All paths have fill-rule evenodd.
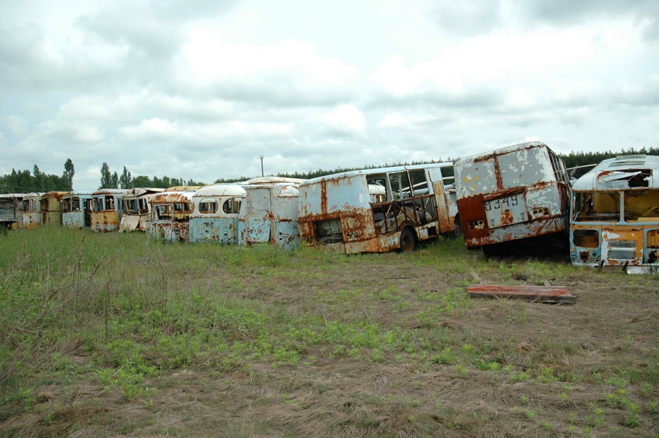
<path id="1" fill-rule="evenodd" d="M 197 190 L 192 197 L 189 242 L 236 243 L 244 197 L 245 189 L 239 184 L 213 184 Z"/>

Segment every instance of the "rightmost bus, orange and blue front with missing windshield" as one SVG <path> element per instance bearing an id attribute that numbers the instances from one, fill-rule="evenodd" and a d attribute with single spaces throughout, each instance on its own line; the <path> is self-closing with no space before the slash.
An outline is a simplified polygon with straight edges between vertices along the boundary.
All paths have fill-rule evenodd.
<path id="1" fill-rule="evenodd" d="M 659 179 L 654 172 L 659 172 L 659 156 L 618 156 L 602 161 L 573 183 L 573 265 L 658 272 Z"/>

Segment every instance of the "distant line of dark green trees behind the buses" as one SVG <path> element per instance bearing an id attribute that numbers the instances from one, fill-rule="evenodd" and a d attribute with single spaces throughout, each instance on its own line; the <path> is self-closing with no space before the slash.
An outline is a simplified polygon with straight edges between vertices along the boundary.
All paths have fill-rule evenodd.
<path id="1" fill-rule="evenodd" d="M 620 152 L 601 151 L 601 152 L 570 152 L 569 154 L 559 154 L 559 158 L 565 163 L 566 168 L 578 168 L 579 166 L 595 165 L 605 159 L 614 158 L 619 155 L 633 155 L 633 154 L 646 154 L 646 155 L 659 155 L 659 147 L 641 147 L 634 149 L 621 149 Z M 415 165 L 415 164 L 429 164 L 429 163 L 442 163 L 453 162 L 455 159 L 439 159 L 436 161 L 412 161 L 406 163 L 391 163 L 386 165 L 365 165 L 361 168 L 336 168 L 336 169 L 318 169 L 309 170 L 308 172 L 293 172 L 286 173 L 280 172 L 276 177 L 311 179 L 317 177 L 324 177 L 340 172 L 349 172 L 351 170 L 360 169 L 374 169 L 381 167 L 390 167 L 395 165 Z M 572 176 L 575 178 L 584 175 L 589 171 L 589 168 L 575 169 Z M 49 192 L 49 191 L 71 191 L 73 190 L 73 175 L 75 168 L 73 161 L 67 159 L 64 163 L 64 171 L 61 176 L 49 175 L 39 170 L 38 165 L 34 165 L 32 172 L 29 170 L 15 170 L 12 169 L 10 174 L 0 177 L 0 191 L 10 193 L 31 193 L 31 192 Z M 442 175 L 444 177 L 453 176 L 453 168 L 443 168 Z M 235 181 L 247 181 L 254 177 L 239 177 L 239 178 L 219 178 L 214 181 L 215 184 L 232 183 Z M 139 175 L 133 177 L 131 172 L 124 166 L 121 175 L 118 172 L 111 172 L 108 163 L 103 163 L 101 166 L 101 178 L 99 188 L 134 188 L 134 187 L 153 187 L 153 188 L 168 188 L 173 186 L 203 186 L 203 182 L 194 181 L 193 179 L 183 178 L 170 178 L 164 177 L 148 177 L 146 175 Z"/>

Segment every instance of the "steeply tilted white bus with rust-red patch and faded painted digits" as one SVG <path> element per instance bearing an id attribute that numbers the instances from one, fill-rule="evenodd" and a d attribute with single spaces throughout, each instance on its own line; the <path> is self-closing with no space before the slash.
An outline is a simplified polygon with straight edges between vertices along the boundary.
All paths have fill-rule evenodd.
<path id="1" fill-rule="evenodd" d="M 459 159 L 454 165 L 460 227 L 470 248 L 566 233 L 569 176 L 547 145 L 522 143 Z M 567 241 L 567 239 L 564 239 Z"/>

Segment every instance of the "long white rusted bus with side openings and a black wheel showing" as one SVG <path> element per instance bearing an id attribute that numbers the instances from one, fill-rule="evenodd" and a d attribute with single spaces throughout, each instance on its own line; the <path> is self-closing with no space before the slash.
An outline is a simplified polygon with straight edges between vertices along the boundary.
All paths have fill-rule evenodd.
<path id="1" fill-rule="evenodd" d="M 441 172 L 450 167 L 452 163 L 396 166 L 303 181 L 301 238 L 351 254 L 411 251 L 418 241 L 452 234 L 456 209 Z"/>

